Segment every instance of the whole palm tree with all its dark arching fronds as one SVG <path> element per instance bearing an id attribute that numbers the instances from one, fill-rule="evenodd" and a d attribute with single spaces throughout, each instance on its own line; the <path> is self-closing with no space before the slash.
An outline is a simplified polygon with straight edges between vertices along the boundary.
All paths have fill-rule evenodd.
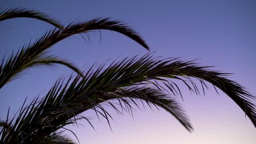
<path id="1" fill-rule="evenodd" d="M 182 98 L 182 95 L 178 84 L 173 80 L 184 82 L 196 94 L 200 92 L 195 80 L 200 82 L 203 92 L 204 88 L 208 88 L 205 82 L 210 82 L 214 88 L 219 88 L 234 100 L 256 127 L 256 98 L 240 84 L 225 78 L 227 73 L 209 70 L 210 67 L 199 66 L 194 61 L 178 58 L 158 60 L 153 58 L 152 53 L 148 53 L 142 57 L 114 61 L 109 66 L 94 64 L 89 70 L 82 71 L 49 54 L 49 48 L 65 38 L 102 29 L 124 34 L 149 49 L 137 32 L 120 21 L 96 18 L 62 26 L 34 10 L 15 8 L 0 12 L 0 21 L 19 17 L 36 18 L 56 28 L 46 32 L 36 42 L 23 46 L 18 52 L 12 52 L 8 58 L 3 57 L 0 65 L 0 88 L 33 66 L 62 64 L 74 70 L 77 75 L 59 78 L 43 98 L 36 97 L 27 105 L 25 100 L 15 116 L 9 118 L 7 115 L 6 120 L 0 122 L 1 144 L 72 144 L 72 140 L 60 130 L 68 130 L 64 126 L 77 124 L 80 119 L 90 123 L 88 118 L 81 115 L 88 109 L 94 110 L 97 116 L 106 118 L 110 126 L 109 120 L 112 117 L 102 107 L 103 102 L 121 114 L 124 111 L 132 112 L 132 104 L 139 106 L 140 102 L 150 108 L 162 107 L 191 132 L 192 124 L 176 101 L 175 97 Z M 119 106 L 112 100 L 118 102 Z M 92 124 L 91 126 L 93 128 Z"/>

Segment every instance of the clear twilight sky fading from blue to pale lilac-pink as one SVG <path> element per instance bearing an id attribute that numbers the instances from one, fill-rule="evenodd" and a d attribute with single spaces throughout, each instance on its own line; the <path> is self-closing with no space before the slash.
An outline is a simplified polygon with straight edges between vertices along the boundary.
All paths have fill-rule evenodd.
<path id="1" fill-rule="evenodd" d="M 256 1 L 254 0 L 1 0 L 5 8 L 30 8 L 50 15 L 62 24 L 72 21 L 111 17 L 122 20 L 138 31 L 155 51 L 154 56 L 182 57 L 196 60 L 213 70 L 232 73 L 228 76 L 256 96 Z M 34 42 L 50 24 L 30 18 L 16 18 L 0 22 L 0 56 L 15 52 L 19 47 Z M 79 35 L 67 38 L 51 49 L 51 54 L 74 63 L 78 68 L 94 62 L 105 62 L 118 56 L 146 54 L 148 51 L 133 40 L 116 32 L 91 34 L 90 42 Z M 44 95 L 62 75 L 72 70 L 64 66 L 38 67 L 27 70 L 20 78 L 0 89 L 0 118 L 5 119 L 10 106 L 13 114 L 26 97 Z M 92 124 L 80 122 L 73 130 L 81 144 L 254 144 L 256 129 L 244 112 L 224 93 L 214 88 L 205 96 L 190 94 L 181 85 L 186 110 L 193 127 L 188 132 L 165 110 L 136 108 L 134 116 L 118 116 L 108 108 L 115 121 L 98 120 L 93 111 L 84 112 Z M 75 140 L 74 135 L 66 132 Z"/>

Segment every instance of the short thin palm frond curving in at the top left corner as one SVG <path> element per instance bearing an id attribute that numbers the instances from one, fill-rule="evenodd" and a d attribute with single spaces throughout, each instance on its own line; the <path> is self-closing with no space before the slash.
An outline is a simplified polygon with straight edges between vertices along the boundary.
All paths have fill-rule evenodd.
<path id="1" fill-rule="evenodd" d="M 0 21 L 11 18 L 34 18 L 52 24 L 60 29 L 63 27 L 61 24 L 59 24 L 59 22 L 56 22 L 56 20 L 49 18 L 49 16 L 46 14 L 36 10 L 28 10 L 26 8 L 11 8 L 0 11 Z"/>

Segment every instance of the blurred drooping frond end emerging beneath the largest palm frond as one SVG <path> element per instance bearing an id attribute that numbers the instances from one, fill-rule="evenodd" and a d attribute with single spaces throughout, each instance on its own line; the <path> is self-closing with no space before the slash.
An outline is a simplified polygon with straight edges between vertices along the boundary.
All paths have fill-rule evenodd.
<path id="1" fill-rule="evenodd" d="M 176 99 L 168 94 L 164 94 L 163 91 L 159 89 L 149 88 L 146 86 L 128 86 L 126 88 L 118 88 L 114 93 L 102 93 L 102 96 L 104 95 L 106 95 L 106 98 L 102 98 L 104 100 L 126 97 L 144 100 L 149 107 L 153 104 L 154 106 L 164 108 L 166 111 L 170 112 L 170 114 L 172 114 L 188 131 L 191 132 L 193 130 L 188 117 Z M 112 95 L 112 97 L 110 95 Z"/>

